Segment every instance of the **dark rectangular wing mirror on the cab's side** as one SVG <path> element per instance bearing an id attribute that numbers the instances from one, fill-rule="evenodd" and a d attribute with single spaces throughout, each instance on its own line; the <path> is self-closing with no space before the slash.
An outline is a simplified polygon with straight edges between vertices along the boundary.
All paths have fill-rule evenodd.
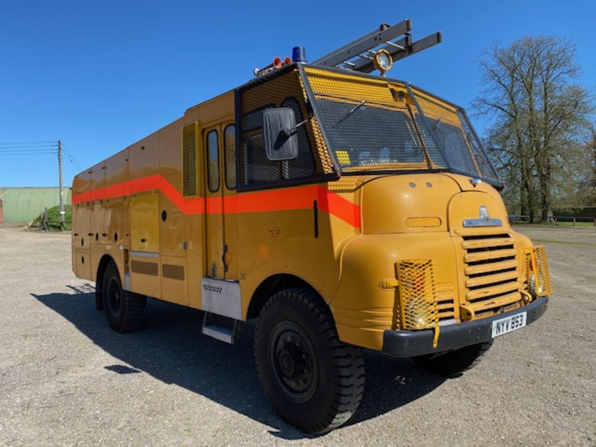
<path id="1" fill-rule="evenodd" d="M 268 108 L 263 111 L 263 139 L 269 160 L 281 162 L 298 157 L 296 128 L 296 115 L 290 107 Z"/>

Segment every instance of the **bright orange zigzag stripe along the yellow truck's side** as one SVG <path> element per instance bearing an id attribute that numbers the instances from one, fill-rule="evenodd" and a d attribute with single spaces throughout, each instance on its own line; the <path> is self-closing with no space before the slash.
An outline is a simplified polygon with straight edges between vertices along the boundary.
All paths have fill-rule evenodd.
<path id="1" fill-rule="evenodd" d="M 283 190 L 254 191 L 221 197 L 185 198 L 162 175 L 150 175 L 140 179 L 122 182 L 110 187 L 98 188 L 86 193 L 73 194 L 72 203 L 83 203 L 105 198 L 159 190 L 186 215 L 235 214 L 265 211 L 288 211 L 311 209 L 317 201 L 319 209 L 336 216 L 342 221 L 360 228 L 360 206 L 341 197 L 327 188 L 308 185 Z"/>

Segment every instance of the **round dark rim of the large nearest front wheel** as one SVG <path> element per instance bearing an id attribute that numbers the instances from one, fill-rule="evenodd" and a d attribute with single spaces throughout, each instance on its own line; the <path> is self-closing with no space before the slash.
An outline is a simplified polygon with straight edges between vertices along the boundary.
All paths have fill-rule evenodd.
<path id="1" fill-rule="evenodd" d="M 306 402 L 315 393 L 318 363 L 311 340 L 291 321 L 277 324 L 268 341 L 269 369 L 275 385 L 293 402 Z"/>

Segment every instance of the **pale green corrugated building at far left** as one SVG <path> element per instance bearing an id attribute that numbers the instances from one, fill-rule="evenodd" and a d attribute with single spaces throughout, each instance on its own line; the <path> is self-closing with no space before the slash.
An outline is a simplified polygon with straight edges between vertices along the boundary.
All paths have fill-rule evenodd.
<path id="1" fill-rule="evenodd" d="M 49 188 L 0 188 L 4 207 L 4 222 L 29 222 L 48 209 L 60 204 L 58 187 Z M 64 204 L 70 205 L 72 191 L 63 188 Z"/>

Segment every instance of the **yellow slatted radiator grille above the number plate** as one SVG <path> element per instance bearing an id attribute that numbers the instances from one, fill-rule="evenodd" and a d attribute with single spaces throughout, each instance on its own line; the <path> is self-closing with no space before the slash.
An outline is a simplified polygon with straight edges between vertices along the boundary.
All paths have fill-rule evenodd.
<path id="1" fill-rule="evenodd" d="M 477 317 L 520 306 L 522 281 L 516 242 L 509 234 L 464 236 L 465 301 Z"/>

